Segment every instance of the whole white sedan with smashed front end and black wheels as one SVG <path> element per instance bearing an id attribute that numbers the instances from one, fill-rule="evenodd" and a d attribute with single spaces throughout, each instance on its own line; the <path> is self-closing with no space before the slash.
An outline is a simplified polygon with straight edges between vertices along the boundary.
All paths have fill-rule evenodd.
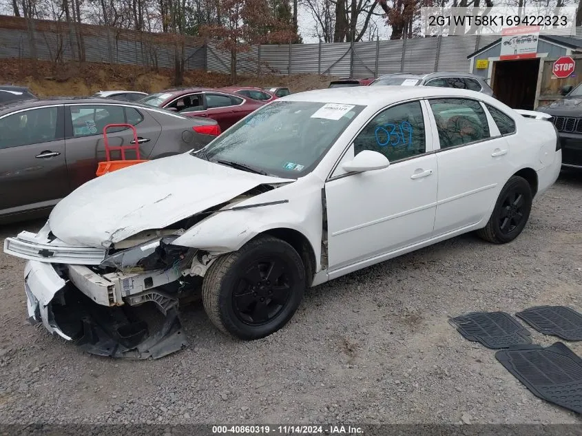
<path id="1" fill-rule="evenodd" d="M 196 292 L 218 329 L 262 338 L 306 287 L 468 231 L 514 240 L 561 166 L 552 123 L 523 114 L 441 87 L 292 94 L 198 152 L 91 180 L 4 251 L 28 260 L 30 321 L 92 353 L 179 349 Z M 141 305 L 166 315 L 155 333 Z"/>

